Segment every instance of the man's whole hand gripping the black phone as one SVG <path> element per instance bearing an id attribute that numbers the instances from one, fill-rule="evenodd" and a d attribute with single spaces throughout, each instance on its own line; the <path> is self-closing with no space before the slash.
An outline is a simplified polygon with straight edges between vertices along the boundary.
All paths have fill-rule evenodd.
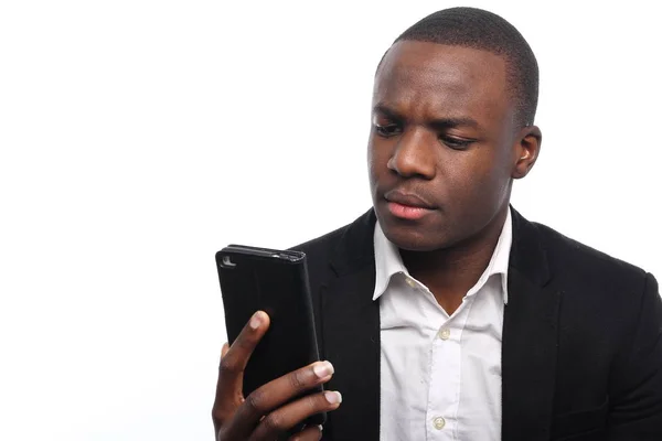
<path id="1" fill-rule="evenodd" d="M 340 406 L 342 397 L 325 390 L 288 402 L 305 390 L 324 384 L 333 375 L 329 362 L 317 362 L 259 387 L 247 397 L 242 394 L 244 369 L 250 354 L 269 329 L 269 316 L 256 312 L 232 346 L 223 346 L 216 399 L 212 410 L 216 441 L 278 439 L 306 418 Z M 286 405 L 287 402 L 287 405 Z M 290 441 L 320 440 L 321 427 L 307 427 Z"/>

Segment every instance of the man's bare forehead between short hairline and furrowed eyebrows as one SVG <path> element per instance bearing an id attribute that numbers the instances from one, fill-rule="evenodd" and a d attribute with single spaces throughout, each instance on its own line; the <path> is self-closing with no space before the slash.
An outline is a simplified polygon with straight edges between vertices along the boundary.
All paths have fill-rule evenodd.
<path id="1" fill-rule="evenodd" d="M 496 117 L 511 107 L 506 63 L 472 47 L 401 41 L 382 61 L 373 101 L 412 111 Z"/>

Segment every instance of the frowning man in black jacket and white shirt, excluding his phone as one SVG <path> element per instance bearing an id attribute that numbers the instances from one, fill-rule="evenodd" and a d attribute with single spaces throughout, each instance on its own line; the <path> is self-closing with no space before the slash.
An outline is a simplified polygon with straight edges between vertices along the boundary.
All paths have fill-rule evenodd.
<path id="1" fill-rule="evenodd" d="M 328 362 L 242 397 L 256 313 L 223 349 L 217 439 L 276 439 L 320 411 L 323 432 L 290 439 L 662 439 L 655 279 L 510 207 L 538 157 L 536 104 L 535 57 L 498 15 L 444 10 L 395 41 L 375 76 L 373 208 L 297 247 Z"/>

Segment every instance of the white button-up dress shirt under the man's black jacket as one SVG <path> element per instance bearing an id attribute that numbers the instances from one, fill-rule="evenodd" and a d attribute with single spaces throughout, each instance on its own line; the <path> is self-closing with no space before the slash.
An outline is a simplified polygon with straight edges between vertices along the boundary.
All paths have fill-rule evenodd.
<path id="1" fill-rule="evenodd" d="M 501 336 L 510 209 L 488 268 L 448 315 L 375 225 L 382 441 L 501 439 Z"/>

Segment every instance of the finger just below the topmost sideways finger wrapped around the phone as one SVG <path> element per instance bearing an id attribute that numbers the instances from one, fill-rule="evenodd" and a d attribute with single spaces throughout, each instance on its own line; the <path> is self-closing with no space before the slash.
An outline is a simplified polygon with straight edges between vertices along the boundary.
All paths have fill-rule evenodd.
<path id="1" fill-rule="evenodd" d="M 342 396 L 340 392 L 331 390 L 299 398 L 267 415 L 259 422 L 249 440 L 271 440 L 277 438 L 308 417 L 338 409 L 341 401 Z"/>

